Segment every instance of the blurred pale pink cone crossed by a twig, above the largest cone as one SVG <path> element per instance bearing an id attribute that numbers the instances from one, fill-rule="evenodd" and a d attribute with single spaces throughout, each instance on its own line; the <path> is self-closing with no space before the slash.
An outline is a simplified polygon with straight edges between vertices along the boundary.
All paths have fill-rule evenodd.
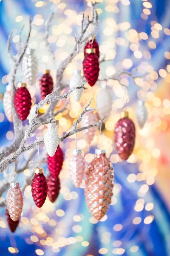
<path id="1" fill-rule="evenodd" d="M 95 125 L 97 122 L 98 122 L 97 114 L 94 113 L 93 111 L 89 111 L 82 116 L 81 127 L 86 127 L 88 125 Z M 94 126 L 82 131 L 83 138 L 84 140 L 87 141 L 88 144 L 90 144 L 94 139 L 96 130 L 97 130 L 97 127 Z"/>

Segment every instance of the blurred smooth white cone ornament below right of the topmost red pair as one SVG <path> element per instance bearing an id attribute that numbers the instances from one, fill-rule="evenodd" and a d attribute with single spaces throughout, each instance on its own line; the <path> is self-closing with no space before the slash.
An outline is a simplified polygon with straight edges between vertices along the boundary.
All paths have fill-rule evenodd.
<path id="1" fill-rule="evenodd" d="M 112 94 L 113 92 L 111 89 L 105 84 L 102 84 L 102 88 L 99 90 L 96 96 L 97 113 L 100 119 L 104 118 L 105 116 L 109 117 L 111 114 L 113 103 Z"/>

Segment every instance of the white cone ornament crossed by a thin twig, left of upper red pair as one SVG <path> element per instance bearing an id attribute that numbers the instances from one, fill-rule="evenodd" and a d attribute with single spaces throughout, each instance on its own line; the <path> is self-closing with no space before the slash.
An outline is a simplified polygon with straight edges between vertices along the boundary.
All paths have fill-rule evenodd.
<path id="1" fill-rule="evenodd" d="M 83 85 L 83 80 L 80 73 L 81 73 L 80 70 L 74 70 L 74 75 L 70 80 L 70 88 L 81 87 Z M 79 102 L 82 96 L 82 93 L 83 93 L 83 88 L 74 90 L 72 92 L 73 99 Z"/>

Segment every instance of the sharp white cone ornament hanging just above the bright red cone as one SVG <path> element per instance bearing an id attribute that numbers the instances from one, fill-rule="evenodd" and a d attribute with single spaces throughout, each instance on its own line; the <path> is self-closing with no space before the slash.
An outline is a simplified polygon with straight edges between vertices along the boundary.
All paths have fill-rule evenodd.
<path id="1" fill-rule="evenodd" d="M 47 150 L 47 153 L 50 157 L 53 157 L 59 143 L 59 135 L 58 132 L 56 131 L 56 124 L 55 123 L 50 123 L 47 125 L 47 131 L 45 132 L 44 135 L 44 144 L 45 148 Z"/>

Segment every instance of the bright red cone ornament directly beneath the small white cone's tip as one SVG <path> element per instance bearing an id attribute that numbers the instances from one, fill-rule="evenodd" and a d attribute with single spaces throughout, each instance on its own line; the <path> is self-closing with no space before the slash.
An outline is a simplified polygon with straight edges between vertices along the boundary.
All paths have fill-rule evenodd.
<path id="1" fill-rule="evenodd" d="M 58 145 L 57 150 L 53 157 L 47 154 L 47 164 L 51 175 L 55 178 L 59 176 L 64 161 L 64 154 L 60 146 Z"/>

